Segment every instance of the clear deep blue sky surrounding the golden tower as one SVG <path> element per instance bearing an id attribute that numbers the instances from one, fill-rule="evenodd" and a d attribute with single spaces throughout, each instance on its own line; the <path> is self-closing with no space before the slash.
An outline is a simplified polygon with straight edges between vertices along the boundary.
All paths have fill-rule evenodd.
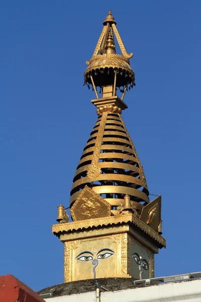
<path id="1" fill-rule="evenodd" d="M 108 3 L 0 3 L 0 275 L 34 290 L 63 282 L 51 228 L 96 121 L 83 72 L 109 10 L 134 52 L 122 117 L 150 193 L 162 194 L 167 248 L 155 275 L 200 271 L 201 3 Z"/>

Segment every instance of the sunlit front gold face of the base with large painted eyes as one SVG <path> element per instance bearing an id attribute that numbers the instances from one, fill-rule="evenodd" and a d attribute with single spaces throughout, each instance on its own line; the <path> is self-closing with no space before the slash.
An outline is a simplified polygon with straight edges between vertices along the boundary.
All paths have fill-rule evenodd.
<path id="1" fill-rule="evenodd" d="M 66 241 L 64 245 L 64 282 L 132 276 L 127 233 Z"/>

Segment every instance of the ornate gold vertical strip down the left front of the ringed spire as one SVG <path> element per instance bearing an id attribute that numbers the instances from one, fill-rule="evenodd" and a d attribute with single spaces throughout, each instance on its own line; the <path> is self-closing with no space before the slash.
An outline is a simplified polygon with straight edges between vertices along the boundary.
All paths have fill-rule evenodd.
<path id="1" fill-rule="evenodd" d="M 104 112 L 102 115 L 102 119 L 100 121 L 100 126 L 97 132 L 95 146 L 94 146 L 94 152 L 93 152 L 93 158 L 91 161 L 91 165 L 89 166 L 89 169 L 87 171 L 87 177 L 93 181 L 97 178 L 97 176 L 100 174 L 100 166 L 99 166 L 99 156 L 100 156 L 100 148 L 102 145 L 102 138 L 104 134 L 104 129 L 106 125 L 108 112 Z"/>

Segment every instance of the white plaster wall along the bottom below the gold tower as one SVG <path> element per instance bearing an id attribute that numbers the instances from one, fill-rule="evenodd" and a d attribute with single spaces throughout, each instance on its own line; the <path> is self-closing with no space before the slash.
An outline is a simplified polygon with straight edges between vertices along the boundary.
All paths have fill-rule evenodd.
<path id="1" fill-rule="evenodd" d="M 47 302 L 95 302 L 94 292 L 45 299 Z M 100 302 L 201 302 L 201 279 L 171 282 L 119 291 L 102 291 Z"/>

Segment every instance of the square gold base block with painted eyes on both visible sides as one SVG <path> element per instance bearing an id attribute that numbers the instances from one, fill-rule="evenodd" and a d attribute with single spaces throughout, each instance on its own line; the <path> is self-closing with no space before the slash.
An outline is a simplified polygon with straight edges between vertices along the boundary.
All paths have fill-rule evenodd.
<path id="1" fill-rule="evenodd" d="M 64 280 L 109 277 L 148 279 L 150 253 L 128 233 L 66 241 Z"/>

